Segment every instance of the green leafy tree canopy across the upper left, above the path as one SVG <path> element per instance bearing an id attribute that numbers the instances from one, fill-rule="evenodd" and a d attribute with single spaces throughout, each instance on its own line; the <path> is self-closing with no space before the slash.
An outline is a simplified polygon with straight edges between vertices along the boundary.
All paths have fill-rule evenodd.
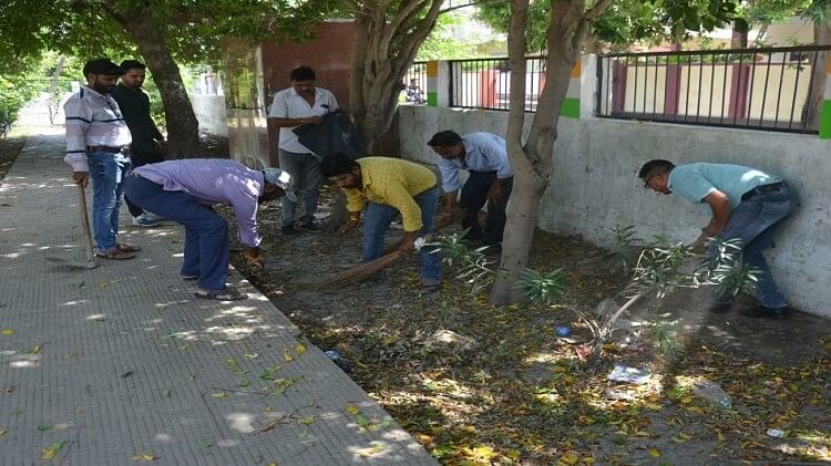
<path id="1" fill-rule="evenodd" d="M 329 0 L 7 0 L 0 3 L 0 54 L 40 56 L 43 50 L 92 58 L 135 55 L 123 22 L 152 17 L 182 63 L 215 62 L 224 35 L 302 39 L 334 11 Z M 4 64 L 8 66 L 9 64 Z"/>

